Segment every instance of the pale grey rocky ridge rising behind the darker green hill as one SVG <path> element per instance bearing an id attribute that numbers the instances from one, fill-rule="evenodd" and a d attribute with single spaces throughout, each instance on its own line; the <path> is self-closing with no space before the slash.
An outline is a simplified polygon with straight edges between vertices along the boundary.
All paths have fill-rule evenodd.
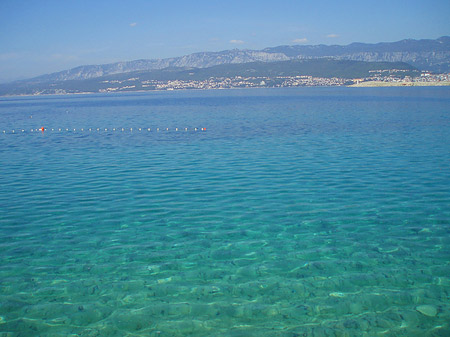
<path id="1" fill-rule="evenodd" d="M 263 50 L 199 52 L 181 57 L 135 60 L 104 65 L 85 65 L 49 75 L 34 82 L 83 80 L 134 71 L 177 68 L 208 68 L 229 63 L 275 62 L 293 59 L 333 58 L 366 62 L 406 62 L 419 70 L 450 72 L 450 37 L 436 40 L 402 40 L 392 43 L 338 45 L 294 45 Z"/>

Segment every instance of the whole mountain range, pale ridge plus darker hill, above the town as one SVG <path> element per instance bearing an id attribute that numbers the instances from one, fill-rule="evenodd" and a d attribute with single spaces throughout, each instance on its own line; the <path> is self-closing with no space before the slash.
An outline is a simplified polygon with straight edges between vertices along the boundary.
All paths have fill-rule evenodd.
<path id="1" fill-rule="evenodd" d="M 30 80 L 2 84 L 0 85 L 0 95 L 36 93 L 42 91 L 42 89 L 46 87 L 63 88 L 66 86 L 63 85 L 63 82 L 66 81 L 100 79 L 105 76 L 136 72 L 150 72 L 152 75 L 149 76 L 155 78 L 155 75 L 158 74 L 157 71 L 163 69 L 166 69 L 166 71 L 160 72 L 159 75 L 164 78 L 167 77 L 167 74 L 169 73 L 171 73 L 171 76 L 182 76 L 183 71 L 189 69 L 191 69 L 191 73 L 192 69 L 197 69 L 194 71 L 197 75 L 198 73 L 202 73 L 204 76 L 213 76 L 213 73 L 217 72 L 217 69 L 215 68 L 217 66 L 253 64 L 254 68 L 255 64 L 257 64 L 258 72 L 260 73 L 264 73 L 263 68 L 266 67 L 266 70 L 269 73 L 271 71 L 274 73 L 274 69 L 276 68 L 278 70 L 275 72 L 278 71 L 278 73 L 281 72 L 285 75 L 289 75 L 289 71 L 296 68 L 295 66 L 298 68 L 300 63 L 289 63 L 288 61 L 316 59 L 361 61 L 363 63 L 377 62 L 379 63 L 378 65 L 380 65 L 380 62 L 396 62 L 396 67 L 402 64 L 400 69 L 408 68 L 408 66 L 405 66 L 405 64 L 408 64 L 412 66 L 409 70 L 418 69 L 435 73 L 448 73 L 450 72 L 450 37 L 444 36 L 436 40 L 408 39 L 392 43 L 377 44 L 352 43 L 346 46 L 294 45 L 271 47 L 263 50 L 233 49 L 221 52 L 200 52 L 166 59 L 136 60 L 104 65 L 86 65 L 53 74 L 42 75 Z M 360 70 L 367 68 L 367 64 L 362 66 L 363 63 L 360 63 L 360 66 L 362 67 L 360 67 Z M 307 64 L 313 68 L 317 68 L 317 64 L 311 62 L 303 63 L 301 66 L 303 71 L 302 74 L 314 76 L 314 71 L 307 71 L 305 68 Z M 323 63 L 322 66 L 325 67 L 324 69 L 327 69 L 326 71 L 328 71 L 328 73 L 322 71 L 324 69 L 319 71 L 319 73 L 322 77 L 334 77 L 338 74 L 344 78 L 346 76 L 348 76 L 346 78 L 351 78 L 350 76 L 355 74 L 359 74 L 358 76 L 360 76 L 364 73 L 364 71 L 356 71 L 356 73 L 352 74 L 348 71 L 343 72 L 342 69 L 340 71 L 339 67 L 344 64 L 345 63 Z M 348 64 L 346 65 L 348 66 Z M 280 70 L 280 67 L 285 67 L 286 69 Z M 245 69 L 247 68 L 249 67 L 241 66 L 230 68 L 229 71 L 234 75 L 238 74 L 236 71 L 240 71 L 244 74 L 246 71 Z M 367 69 L 369 68 L 370 66 Z M 384 64 L 382 68 L 387 69 L 389 67 L 386 68 L 386 65 Z M 395 68 L 394 65 L 392 65 L 391 68 Z M 210 71 L 202 72 L 198 69 L 209 69 Z M 225 68 L 221 69 L 219 67 L 218 69 L 219 73 L 222 73 Z M 294 71 L 294 73 L 298 75 L 298 72 L 296 73 Z M 45 91 L 45 89 L 43 90 Z"/>

